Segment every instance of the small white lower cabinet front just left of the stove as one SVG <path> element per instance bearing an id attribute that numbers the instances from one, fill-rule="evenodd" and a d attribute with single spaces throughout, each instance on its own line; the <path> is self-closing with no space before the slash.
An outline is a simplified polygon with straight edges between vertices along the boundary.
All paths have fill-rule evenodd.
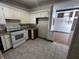
<path id="1" fill-rule="evenodd" d="M 2 39 L 2 44 L 4 47 L 4 51 L 6 51 L 12 47 L 11 39 L 10 39 L 9 35 L 3 35 L 3 36 L 1 36 L 1 39 Z"/>

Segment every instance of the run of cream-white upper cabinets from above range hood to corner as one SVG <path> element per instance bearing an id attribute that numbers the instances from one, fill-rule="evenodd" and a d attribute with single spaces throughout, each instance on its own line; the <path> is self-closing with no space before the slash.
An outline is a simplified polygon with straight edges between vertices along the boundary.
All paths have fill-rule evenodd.
<path id="1" fill-rule="evenodd" d="M 4 8 L 6 19 L 18 19 L 21 23 L 29 23 L 29 12 L 20 9 Z"/>

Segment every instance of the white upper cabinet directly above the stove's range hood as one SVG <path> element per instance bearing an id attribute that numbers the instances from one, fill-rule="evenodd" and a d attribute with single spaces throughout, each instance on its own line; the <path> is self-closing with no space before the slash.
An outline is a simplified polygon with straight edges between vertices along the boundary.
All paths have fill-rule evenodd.
<path id="1" fill-rule="evenodd" d="M 10 8 L 4 8 L 6 19 L 19 19 L 19 12 Z"/>

